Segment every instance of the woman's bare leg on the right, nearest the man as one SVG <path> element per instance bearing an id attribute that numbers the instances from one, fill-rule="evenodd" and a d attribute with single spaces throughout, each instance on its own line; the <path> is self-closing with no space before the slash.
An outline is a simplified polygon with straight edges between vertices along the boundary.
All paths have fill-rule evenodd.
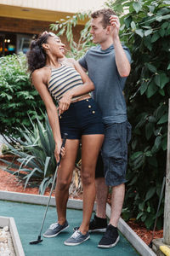
<path id="1" fill-rule="evenodd" d="M 80 231 L 86 234 L 95 200 L 95 166 L 104 135 L 82 136 L 82 187 L 83 187 L 83 217 Z"/>

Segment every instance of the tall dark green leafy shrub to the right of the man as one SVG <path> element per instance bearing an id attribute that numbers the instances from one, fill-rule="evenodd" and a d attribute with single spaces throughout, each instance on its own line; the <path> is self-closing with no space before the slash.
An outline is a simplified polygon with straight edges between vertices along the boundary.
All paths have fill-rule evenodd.
<path id="1" fill-rule="evenodd" d="M 115 4 L 117 4 L 116 1 Z M 170 1 L 122 1 L 122 39 L 132 53 L 125 95 L 133 125 L 129 147 L 125 218 L 152 228 L 166 171 L 167 111 L 170 97 Z M 113 6 L 114 7 L 114 6 Z M 130 211 L 129 211 L 130 210 Z M 163 223 L 163 201 L 157 227 Z"/>

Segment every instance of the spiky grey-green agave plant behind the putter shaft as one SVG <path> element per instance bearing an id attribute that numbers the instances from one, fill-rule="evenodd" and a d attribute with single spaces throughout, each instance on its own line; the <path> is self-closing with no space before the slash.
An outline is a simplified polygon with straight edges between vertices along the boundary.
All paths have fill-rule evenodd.
<path id="1" fill-rule="evenodd" d="M 8 144 L 10 154 L 17 161 L 3 160 L 8 165 L 4 171 L 24 181 L 25 189 L 32 181 L 39 183 L 39 193 L 43 195 L 53 181 L 56 168 L 54 137 L 47 114 L 44 124 L 37 117 L 37 123 L 31 121 L 31 125 L 32 129 L 25 126 L 19 129 L 22 138 L 16 138 L 15 146 Z M 13 172 L 12 168 L 17 171 Z"/>

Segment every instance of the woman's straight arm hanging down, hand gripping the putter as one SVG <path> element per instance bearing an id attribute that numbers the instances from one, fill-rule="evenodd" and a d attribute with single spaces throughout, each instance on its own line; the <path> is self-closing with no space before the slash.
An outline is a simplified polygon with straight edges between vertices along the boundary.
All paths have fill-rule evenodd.
<path id="1" fill-rule="evenodd" d="M 32 78 L 32 84 L 34 84 L 39 95 L 41 96 L 42 101 L 44 102 L 47 113 L 48 113 L 49 124 L 51 125 L 53 135 L 54 135 L 54 142 L 55 142 L 54 154 L 58 162 L 62 140 L 61 140 L 60 129 L 59 129 L 59 118 L 58 118 L 57 108 L 55 107 L 53 99 L 50 96 L 48 89 L 43 82 L 43 79 L 42 79 L 43 73 L 40 70 L 36 70 L 32 73 L 31 78 Z"/>

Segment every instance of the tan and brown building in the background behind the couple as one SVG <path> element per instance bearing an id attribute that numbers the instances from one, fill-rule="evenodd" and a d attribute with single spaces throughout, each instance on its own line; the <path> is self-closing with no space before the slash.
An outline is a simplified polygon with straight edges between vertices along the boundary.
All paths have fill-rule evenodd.
<path id="1" fill-rule="evenodd" d="M 51 23 L 77 12 L 99 9 L 104 3 L 105 0 L 0 0 L 0 56 L 26 53 L 31 38 L 49 31 Z M 75 28 L 76 38 L 86 21 Z M 68 45 L 65 38 L 62 41 Z"/>

